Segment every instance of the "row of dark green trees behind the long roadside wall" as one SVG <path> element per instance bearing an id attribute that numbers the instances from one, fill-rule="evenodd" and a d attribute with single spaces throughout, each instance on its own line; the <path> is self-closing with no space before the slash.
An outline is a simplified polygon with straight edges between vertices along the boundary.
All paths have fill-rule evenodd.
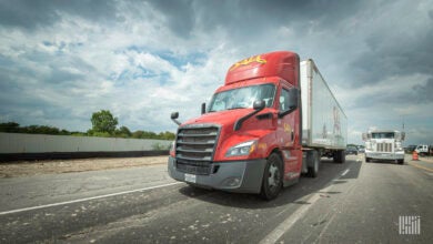
<path id="1" fill-rule="evenodd" d="M 124 139 L 159 139 L 174 140 L 175 134 L 169 131 L 155 133 L 152 131 L 130 131 L 127 126 L 118 128 L 118 118 L 114 118 L 109 110 L 94 112 L 90 119 L 92 129 L 87 132 L 60 130 L 48 125 L 20 126 L 16 122 L 0 123 L 0 132 L 29 133 L 29 134 L 52 134 L 52 135 L 75 135 L 75 136 L 102 136 Z"/>

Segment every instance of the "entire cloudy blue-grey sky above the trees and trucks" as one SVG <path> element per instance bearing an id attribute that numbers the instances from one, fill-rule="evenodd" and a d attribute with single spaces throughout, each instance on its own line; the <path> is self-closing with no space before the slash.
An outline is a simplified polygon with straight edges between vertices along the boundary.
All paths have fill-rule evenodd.
<path id="1" fill-rule="evenodd" d="M 431 0 L 0 0 L 0 122 L 177 131 L 230 65 L 270 51 L 313 59 L 348 116 L 433 144 Z"/>

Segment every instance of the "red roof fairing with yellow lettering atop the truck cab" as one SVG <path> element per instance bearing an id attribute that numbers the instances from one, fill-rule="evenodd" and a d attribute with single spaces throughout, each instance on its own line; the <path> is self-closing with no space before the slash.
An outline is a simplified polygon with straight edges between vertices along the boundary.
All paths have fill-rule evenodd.
<path id="1" fill-rule="evenodd" d="M 290 51 L 268 52 L 243 59 L 230 67 L 225 85 L 262 77 L 280 77 L 298 85 L 299 70 L 295 68 L 299 60 L 299 55 Z"/>

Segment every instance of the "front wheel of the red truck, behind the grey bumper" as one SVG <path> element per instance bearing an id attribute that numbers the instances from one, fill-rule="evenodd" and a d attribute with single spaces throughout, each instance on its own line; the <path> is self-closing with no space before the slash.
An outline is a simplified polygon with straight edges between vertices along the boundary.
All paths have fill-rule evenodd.
<path id="1" fill-rule="evenodd" d="M 283 186 L 283 163 L 279 154 L 272 153 L 264 167 L 260 196 L 264 200 L 275 199 Z"/>

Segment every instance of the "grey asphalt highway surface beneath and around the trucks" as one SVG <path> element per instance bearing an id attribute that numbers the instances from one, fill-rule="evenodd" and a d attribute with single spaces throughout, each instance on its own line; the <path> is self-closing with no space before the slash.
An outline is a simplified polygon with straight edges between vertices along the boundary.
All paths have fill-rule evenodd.
<path id="1" fill-rule="evenodd" d="M 271 202 L 193 189 L 167 165 L 0 179 L 0 243 L 431 243 L 432 180 L 433 162 L 362 155 L 322 159 Z"/>

